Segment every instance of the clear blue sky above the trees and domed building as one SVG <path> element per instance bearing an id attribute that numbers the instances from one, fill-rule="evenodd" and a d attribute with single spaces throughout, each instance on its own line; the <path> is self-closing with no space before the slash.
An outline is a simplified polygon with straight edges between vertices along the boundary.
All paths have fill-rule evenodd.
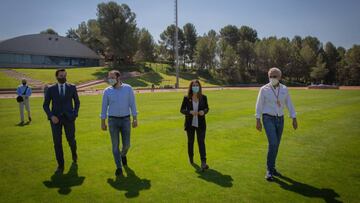
<path id="1" fill-rule="evenodd" d="M 0 40 L 53 28 L 65 35 L 96 18 L 96 0 L 0 0 Z M 157 41 L 174 22 L 173 0 L 123 0 L 136 13 L 138 27 Z M 350 48 L 360 44 L 360 0 L 178 0 L 179 25 L 195 24 L 198 34 L 228 24 L 255 28 L 260 38 L 316 36 Z"/>

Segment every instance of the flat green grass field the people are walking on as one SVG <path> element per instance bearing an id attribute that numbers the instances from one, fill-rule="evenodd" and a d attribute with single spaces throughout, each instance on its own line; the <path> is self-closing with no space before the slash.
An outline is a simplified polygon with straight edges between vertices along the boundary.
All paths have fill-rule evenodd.
<path id="1" fill-rule="evenodd" d="M 285 129 L 277 168 L 264 180 L 267 140 L 255 130 L 256 90 L 208 91 L 207 158 L 199 172 L 187 160 L 184 93 L 137 94 L 139 127 L 132 130 L 125 178 L 114 182 L 108 132 L 100 130 L 101 96 L 81 96 L 78 169 L 56 168 L 42 98 L 32 98 L 33 122 L 23 127 L 14 99 L 0 99 L 1 202 L 359 202 L 360 91 L 291 90 L 299 129 Z M 195 161 L 199 164 L 195 145 Z M 69 171 L 70 170 L 70 171 Z M 69 171 L 69 173 L 68 173 Z"/>

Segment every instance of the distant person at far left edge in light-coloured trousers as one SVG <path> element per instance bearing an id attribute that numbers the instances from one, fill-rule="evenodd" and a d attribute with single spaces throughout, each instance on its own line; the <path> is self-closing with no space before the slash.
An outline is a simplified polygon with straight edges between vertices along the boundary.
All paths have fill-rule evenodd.
<path id="1" fill-rule="evenodd" d="M 23 98 L 22 102 L 19 102 L 20 108 L 20 123 L 19 125 L 24 125 L 24 107 L 28 114 L 29 123 L 31 122 L 31 115 L 30 115 L 30 103 L 29 97 L 31 96 L 31 88 L 26 84 L 26 79 L 21 80 L 22 85 L 16 90 L 18 96 Z"/>

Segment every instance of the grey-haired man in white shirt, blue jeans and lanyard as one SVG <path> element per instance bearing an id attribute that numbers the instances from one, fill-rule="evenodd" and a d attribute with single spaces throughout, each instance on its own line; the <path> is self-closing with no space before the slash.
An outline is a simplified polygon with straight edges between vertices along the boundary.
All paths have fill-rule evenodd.
<path id="1" fill-rule="evenodd" d="M 271 68 L 268 72 L 269 83 L 262 86 L 256 101 L 256 129 L 261 131 L 264 124 L 268 139 L 267 172 L 265 179 L 273 180 L 273 176 L 281 176 L 275 168 L 276 156 L 284 129 L 284 106 L 287 107 L 292 118 L 293 128 L 297 129 L 296 112 L 291 102 L 288 88 L 281 84 L 281 71 Z"/>

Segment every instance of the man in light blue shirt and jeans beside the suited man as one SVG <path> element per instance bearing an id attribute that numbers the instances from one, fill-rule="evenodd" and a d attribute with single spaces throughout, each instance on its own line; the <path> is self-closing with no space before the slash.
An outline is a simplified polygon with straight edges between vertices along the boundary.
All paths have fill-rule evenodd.
<path id="1" fill-rule="evenodd" d="M 122 175 L 122 165 L 127 166 L 126 154 L 130 148 L 130 111 L 133 117 L 132 127 L 137 127 L 137 111 L 135 96 L 132 87 L 120 81 L 120 72 L 112 70 L 108 73 L 108 82 L 111 86 L 103 92 L 101 109 L 101 129 L 109 132 L 112 142 L 112 152 L 116 164 L 116 176 Z M 119 150 L 119 134 L 121 133 L 122 150 Z"/>

